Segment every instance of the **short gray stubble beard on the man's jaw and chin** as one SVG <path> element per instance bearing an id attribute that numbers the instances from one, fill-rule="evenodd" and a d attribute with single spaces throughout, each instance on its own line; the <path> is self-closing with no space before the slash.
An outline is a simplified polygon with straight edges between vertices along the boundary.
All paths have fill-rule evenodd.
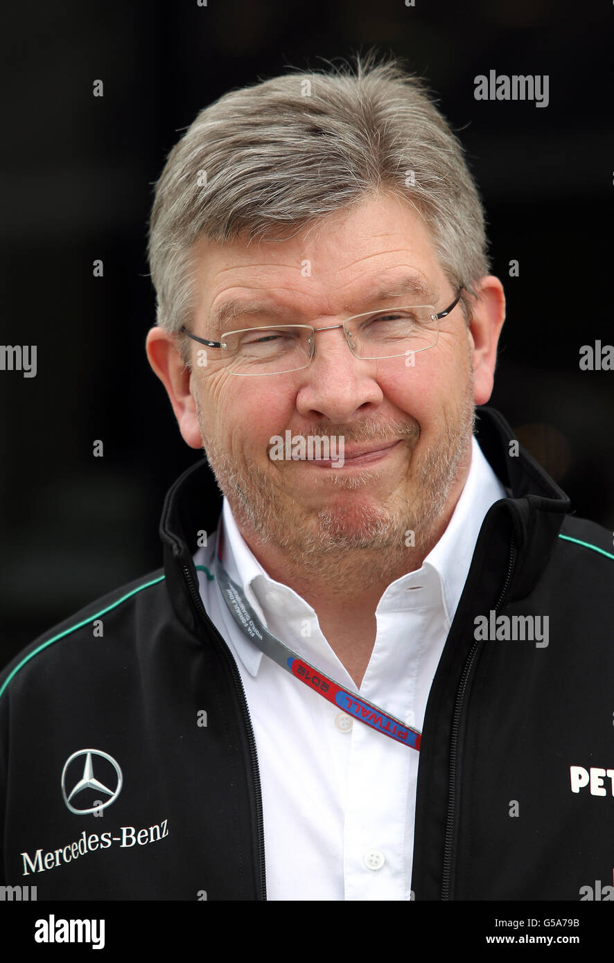
<path id="1" fill-rule="evenodd" d="M 274 484 L 272 477 L 258 465 L 238 465 L 217 439 L 207 437 L 198 397 L 196 406 L 204 454 L 244 537 L 261 545 L 273 543 L 306 577 L 340 584 L 360 573 L 360 584 L 366 588 L 419 567 L 439 540 L 441 515 L 459 465 L 470 455 L 475 423 L 472 388 L 469 371 L 467 391 L 454 422 L 446 423 L 445 433 L 425 450 L 419 464 L 411 464 L 410 470 L 415 473 L 413 499 L 399 499 L 394 495 L 397 504 L 362 506 L 358 526 L 356 502 L 352 501 L 310 514 L 302 512 L 300 507 L 298 512 L 292 511 L 283 492 L 283 469 L 280 469 L 280 484 Z M 334 426 L 328 428 L 334 429 Z M 318 426 L 309 433 L 326 434 L 327 431 Z M 414 453 L 420 434 L 414 421 L 408 425 L 363 422 L 353 426 L 349 441 L 389 441 L 391 433 L 407 440 Z M 345 438 L 348 443 L 348 436 Z M 332 475 L 330 488 L 348 491 L 351 499 L 351 492 L 360 492 L 374 477 L 368 470 L 352 478 Z M 285 509 L 282 508 L 284 500 Z M 414 533 L 414 547 L 407 545 L 408 531 Z"/>

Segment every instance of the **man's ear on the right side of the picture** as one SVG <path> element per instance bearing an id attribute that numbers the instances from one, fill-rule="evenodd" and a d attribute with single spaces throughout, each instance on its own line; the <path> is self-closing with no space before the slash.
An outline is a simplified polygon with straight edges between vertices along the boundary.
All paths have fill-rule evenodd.
<path id="1" fill-rule="evenodd" d="M 480 278 L 478 297 L 472 299 L 472 317 L 468 325 L 473 360 L 473 398 L 486 404 L 493 394 L 496 348 L 505 321 L 505 294 L 498 277 L 487 274 Z"/>

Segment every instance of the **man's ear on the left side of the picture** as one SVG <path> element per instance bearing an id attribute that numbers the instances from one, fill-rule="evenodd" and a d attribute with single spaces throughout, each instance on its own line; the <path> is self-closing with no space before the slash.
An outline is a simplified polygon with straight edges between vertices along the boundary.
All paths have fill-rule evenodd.
<path id="1" fill-rule="evenodd" d="M 169 334 L 162 327 L 152 327 L 147 334 L 146 351 L 154 374 L 167 389 L 183 440 L 190 448 L 202 448 L 199 418 L 192 394 L 192 372 L 181 360 L 176 335 Z"/>

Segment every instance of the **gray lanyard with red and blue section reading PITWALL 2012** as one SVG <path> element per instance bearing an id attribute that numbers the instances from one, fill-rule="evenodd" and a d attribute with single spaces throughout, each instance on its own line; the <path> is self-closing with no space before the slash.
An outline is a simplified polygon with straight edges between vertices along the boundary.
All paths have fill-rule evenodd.
<path id="1" fill-rule="evenodd" d="M 220 519 L 218 545 L 215 557 L 215 573 L 222 590 L 222 596 L 227 604 L 228 612 L 234 618 L 241 631 L 251 638 L 260 651 L 272 659 L 273 662 L 290 672 L 309 689 L 322 695 L 334 706 L 349 716 L 360 719 L 377 732 L 383 733 L 396 742 L 402 742 L 411 749 L 420 748 L 420 732 L 412 729 L 397 719 L 385 713 L 379 706 L 366 699 L 360 698 L 354 692 L 348 692 L 338 682 L 331 679 L 314 665 L 301 659 L 296 652 L 284 645 L 276 636 L 271 635 L 254 612 L 253 607 L 244 597 L 243 592 L 232 581 L 222 564 L 222 539 L 224 536 L 223 522 Z"/>

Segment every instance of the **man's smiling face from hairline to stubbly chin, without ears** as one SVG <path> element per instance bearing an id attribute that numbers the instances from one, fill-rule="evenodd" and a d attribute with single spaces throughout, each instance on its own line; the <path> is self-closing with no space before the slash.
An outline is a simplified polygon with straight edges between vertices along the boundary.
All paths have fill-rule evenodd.
<path id="1" fill-rule="evenodd" d="M 430 303 L 440 311 L 457 294 L 423 221 L 391 195 L 365 199 L 290 240 L 248 246 L 245 239 L 203 239 L 196 251 L 192 330 L 211 340 L 250 325 L 339 325 L 392 305 Z M 376 289 L 408 279 L 430 296 L 409 288 L 373 301 Z M 262 314 L 216 327 L 211 319 L 227 299 L 261 300 Z M 285 309 L 283 322 L 267 315 L 267 305 Z M 229 374 L 216 349 L 207 349 L 200 367 L 200 346 L 191 343 L 194 410 L 179 419 L 183 436 L 203 445 L 246 537 L 316 567 L 338 559 L 338 550 L 400 559 L 408 530 L 416 545 L 433 541 L 457 475 L 467 471 L 474 345 L 462 309 L 440 320 L 437 345 L 416 353 L 414 364 L 403 356 L 357 358 L 340 327 L 314 338 L 307 368 L 257 377 Z M 287 430 L 292 437 L 342 436 L 342 466 L 272 460 L 273 436 L 285 438 Z"/>

